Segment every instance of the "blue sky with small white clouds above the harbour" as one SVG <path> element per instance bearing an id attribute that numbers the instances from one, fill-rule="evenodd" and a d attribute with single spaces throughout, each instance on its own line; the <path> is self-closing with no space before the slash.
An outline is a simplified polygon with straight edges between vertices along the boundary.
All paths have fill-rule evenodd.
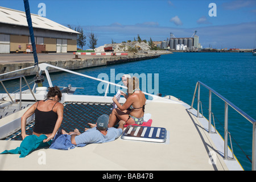
<path id="1" fill-rule="evenodd" d="M 31 13 L 39 3 L 46 5 L 46 18 L 91 30 L 98 45 L 137 38 L 159 41 L 170 37 L 191 37 L 197 31 L 203 47 L 256 48 L 256 1 L 68 1 L 30 0 Z M 210 3 L 216 15 L 209 16 Z M 22 0 L 0 0 L 0 6 L 24 11 Z M 88 43 L 89 41 L 87 41 Z M 86 44 L 87 44 L 86 43 Z M 88 47 L 85 47 L 88 48 Z"/>

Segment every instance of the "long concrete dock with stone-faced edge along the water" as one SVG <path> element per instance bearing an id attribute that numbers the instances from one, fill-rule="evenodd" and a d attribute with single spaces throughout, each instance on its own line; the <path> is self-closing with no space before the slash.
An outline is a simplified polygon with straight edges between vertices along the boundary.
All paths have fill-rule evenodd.
<path id="1" fill-rule="evenodd" d="M 127 56 L 111 56 L 111 55 L 79 55 L 79 59 L 75 59 L 73 53 L 40 53 L 38 54 L 39 63 L 48 63 L 60 68 L 75 70 L 81 68 L 97 67 L 108 64 L 126 63 L 130 61 L 154 59 L 159 57 L 159 53 L 129 53 Z M 0 75 L 3 73 L 15 71 L 34 65 L 34 56 L 30 54 L 1 54 L 0 55 Z M 57 72 L 56 69 L 49 69 L 49 72 Z M 35 69 L 27 69 L 22 72 L 15 72 L 9 75 L 2 75 L 0 79 L 9 78 L 20 75 L 35 75 Z"/>

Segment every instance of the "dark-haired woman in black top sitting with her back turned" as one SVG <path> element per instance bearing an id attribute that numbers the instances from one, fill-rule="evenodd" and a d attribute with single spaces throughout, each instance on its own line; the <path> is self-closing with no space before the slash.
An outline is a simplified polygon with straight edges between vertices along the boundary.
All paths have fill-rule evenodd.
<path id="1" fill-rule="evenodd" d="M 57 86 L 51 87 L 47 93 L 46 100 L 36 102 L 23 114 L 21 119 L 22 139 L 28 136 L 26 134 L 27 118 L 34 113 L 35 126 L 33 134 L 38 137 L 45 134 L 48 138 L 44 142 L 48 142 L 55 136 L 63 120 L 64 106 L 59 102 L 60 100 L 60 89 Z"/>

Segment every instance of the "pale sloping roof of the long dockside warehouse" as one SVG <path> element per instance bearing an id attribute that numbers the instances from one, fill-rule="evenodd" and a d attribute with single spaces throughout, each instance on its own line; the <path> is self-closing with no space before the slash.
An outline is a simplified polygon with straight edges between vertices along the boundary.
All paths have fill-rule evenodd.
<path id="1" fill-rule="evenodd" d="M 26 13 L 24 11 L 8 9 L 6 7 L 0 6 L 0 17 L 1 17 L 0 23 L 14 24 L 18 26 L 28 27 Z M 39 16 L 36 14 L 31 14 L 31 19 L 32 19 L 32 26 L 34 28 L 43 28 L 46 30 L 80 34 L 79 32 L 72 30 L 71 28 L 65 27 L 59 23 L 53 22 L 50 19 L 47 19 L 45 17 Z"/>

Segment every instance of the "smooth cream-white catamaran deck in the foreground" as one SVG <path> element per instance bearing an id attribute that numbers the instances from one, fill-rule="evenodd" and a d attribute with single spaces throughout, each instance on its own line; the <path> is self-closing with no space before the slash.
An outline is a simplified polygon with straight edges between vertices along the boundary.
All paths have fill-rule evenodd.
<path id="1" fill-rule="evenodd" d="M 119 137 L 113 142 L 88 144 L 69 151 L 41 148 L 25 158 L 1 154 L 0 170 L 242 170 L 236 160 L 224 162 L 221 150 L 188 105 L 161 98 L 149 101 L 145 113 L 151 114 L 152 127 L 166 128 L 166 143 Z M 0 152 L 14 149 L 20 143 L 0 140 Z"/>

